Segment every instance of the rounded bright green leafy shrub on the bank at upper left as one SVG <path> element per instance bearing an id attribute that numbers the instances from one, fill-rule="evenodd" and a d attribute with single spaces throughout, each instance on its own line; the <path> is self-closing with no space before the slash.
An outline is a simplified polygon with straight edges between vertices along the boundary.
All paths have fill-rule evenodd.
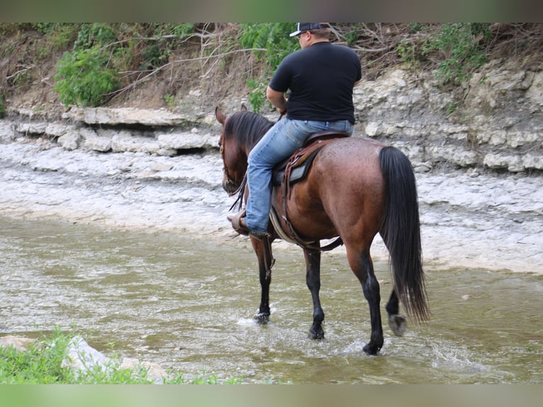
<path id="1" fill-rule="evenodd" d="M 66 106 L 99 106 L 118 88 L 118 74 L 108 68 L 109 53 L 99 46 L 65 52 L 57 62 L 55 91 Z"/>

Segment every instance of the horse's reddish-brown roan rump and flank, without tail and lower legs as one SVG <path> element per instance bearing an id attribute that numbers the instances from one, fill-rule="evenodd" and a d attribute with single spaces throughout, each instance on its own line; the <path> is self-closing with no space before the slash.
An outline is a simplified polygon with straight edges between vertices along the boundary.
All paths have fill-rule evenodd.
<path id="1" fill-rule="evenodd" d="M 384 206 L 380 147 L 371 140 L 346 138 L 319 152 L 306 179 L 294 184 L 287 197 L 286 216 L 298 235 L 308 240 L 339 235 L 345 244 L 371 244 Z M 281 191 L 275 201 L 283 216 Z"/>

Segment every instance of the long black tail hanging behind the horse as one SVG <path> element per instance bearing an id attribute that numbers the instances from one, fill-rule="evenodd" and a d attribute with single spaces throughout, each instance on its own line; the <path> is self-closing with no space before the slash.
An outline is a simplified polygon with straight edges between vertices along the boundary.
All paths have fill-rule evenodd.
<path id="1" fill-rule="evenodd" d="M 430 311 L 422 270 L 415 173 L 408 157 L 396 147 L 383 147 L 379 164 L 386 188 L 381 235 L 390 254 L 394 290 L 410 318 L 427 320 Z"/>

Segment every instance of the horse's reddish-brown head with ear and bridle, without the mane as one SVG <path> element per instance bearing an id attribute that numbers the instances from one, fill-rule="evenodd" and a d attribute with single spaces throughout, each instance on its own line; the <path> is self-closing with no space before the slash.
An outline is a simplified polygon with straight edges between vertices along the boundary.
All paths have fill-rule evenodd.
<path id="1" fill-rule="evenodd" d="M 247 111 L 242 106 L 242 111 Z M 231 116 L 230 116 L 231 117 Z M 215 118 L 223 125 L 220 132 L 219 148 L 220 155 L 223 157 L 223 188 L 228 195 L 233 195 L 240 189 L 240 186 L 247 171 L 247 152 L 241 143 L 237 141 L 233 126 L 228 126 L 229 116 L 215 108 Z"/>

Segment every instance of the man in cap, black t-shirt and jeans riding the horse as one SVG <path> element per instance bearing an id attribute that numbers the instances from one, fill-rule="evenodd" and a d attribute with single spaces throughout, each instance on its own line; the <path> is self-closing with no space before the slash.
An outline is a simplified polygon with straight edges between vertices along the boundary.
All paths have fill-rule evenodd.
<path id="1" fill-rule="evenodd" d="M 267 87 L 266 96 L 279 113 L 287 113 L 253 148 L 248 157 L 249 197 L 245 218 L 230 218 L 245 233 L 267 235 L 271 206 L 271 172 L 274 166 L 320 130 L 352 134 L 352 89 L 362 78 L 356 52 L 330 43 L 328 23 L 298 23 L 301 50 L 287 55 Z M 290 91 L 288 99 L 285 94 Z"/>

